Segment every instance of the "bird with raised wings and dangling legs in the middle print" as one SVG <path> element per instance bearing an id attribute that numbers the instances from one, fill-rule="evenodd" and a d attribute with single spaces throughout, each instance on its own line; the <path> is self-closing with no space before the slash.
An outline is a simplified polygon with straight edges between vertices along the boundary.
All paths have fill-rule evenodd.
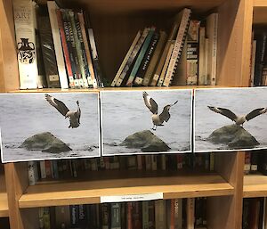
<path id="1" fill-rule="evenodd" d="M 174 102 L 173 104 L 168 104 L 166 105 L 162 112 L 158 114 L 158 103 L 153 100 L 149 94 L 146 92 L 142 93 L 143 101 L 147 108 L 152 112 L 152 122 L 153 122 L 153 127 L 151 128 L 152 130 L 156 130 L 158 126 L 164 126 L 163 123 L 167 122 L 170 118 L 171 115 L 169 113 L 169 110 L 171 109 L 172 106 L 174 106 L 178 101 Z"/>

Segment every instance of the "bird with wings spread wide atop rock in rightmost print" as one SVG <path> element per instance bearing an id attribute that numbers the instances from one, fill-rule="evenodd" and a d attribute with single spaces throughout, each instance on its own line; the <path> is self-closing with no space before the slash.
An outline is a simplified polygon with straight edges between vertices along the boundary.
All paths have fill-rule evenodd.
<path id="1" fill-rule="evenodd" d="M 233 113 L 231 110 L 228 110 L 226 108 L 221 108 L 221 107 L 211 107 L 207 106 L 209 110 L 213 110 L 216 113 L 219 113 L 232 121 L 236 123 L 236 125 L 243 127 L 244 123 L 246 121 L 249 121 L 250 119 L 254 119 L 255 117 L 266 113 L 267 108 L 257 108 L 255 110 L 252 110 L 249 112 L 247 115 L 239 115 L 237 116 L 235 113 Z"/>

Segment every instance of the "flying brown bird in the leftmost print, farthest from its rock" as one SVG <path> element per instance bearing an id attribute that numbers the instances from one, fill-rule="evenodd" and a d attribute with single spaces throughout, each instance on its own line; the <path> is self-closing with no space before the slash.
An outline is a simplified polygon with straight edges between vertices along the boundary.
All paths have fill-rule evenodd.
<path id="1" fill-rule="evenodd" d="M 79 102 L 77 101 L 77 110 L 72 111 L 65 105 L 64 102 L 57 100 L 53 96 L 49 94 L 44 94 L 45 100 L 49 102 L 56 110 L 58 110 L 61 115 L 66 118 L 69 118 L 69 128 L 77 128 L 80 126 L 80 118 L 81 118 L 81 109 L 79 106 Z"/>

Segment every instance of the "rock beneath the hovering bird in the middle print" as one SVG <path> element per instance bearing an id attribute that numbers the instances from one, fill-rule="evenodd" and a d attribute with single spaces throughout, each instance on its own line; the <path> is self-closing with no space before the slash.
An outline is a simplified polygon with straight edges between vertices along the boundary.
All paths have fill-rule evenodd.
<path id="1" fill-rule="evenodd" d="M 142 151 L 147 152 L 168 151 L 171 149 L 150 130 L 143 130 L 134 133 L 134 135 L 129 135 L 120 145 L 124 145 L 127 148 L 140 148 Z"/>

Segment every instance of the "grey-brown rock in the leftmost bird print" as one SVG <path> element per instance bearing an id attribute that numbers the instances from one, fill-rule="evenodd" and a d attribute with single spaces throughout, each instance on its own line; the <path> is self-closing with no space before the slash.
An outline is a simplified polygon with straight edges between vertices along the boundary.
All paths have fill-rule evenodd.
<path id="1" fill-rule="evenodd" d="M 50 132 L 28 137 L 21 145 L 20 148 L 26 148 L 28 151 L 46 151 L 46 152 L 62 152 L 72 151 L 66 143 L 61 139 L 52 135 Z"/>

